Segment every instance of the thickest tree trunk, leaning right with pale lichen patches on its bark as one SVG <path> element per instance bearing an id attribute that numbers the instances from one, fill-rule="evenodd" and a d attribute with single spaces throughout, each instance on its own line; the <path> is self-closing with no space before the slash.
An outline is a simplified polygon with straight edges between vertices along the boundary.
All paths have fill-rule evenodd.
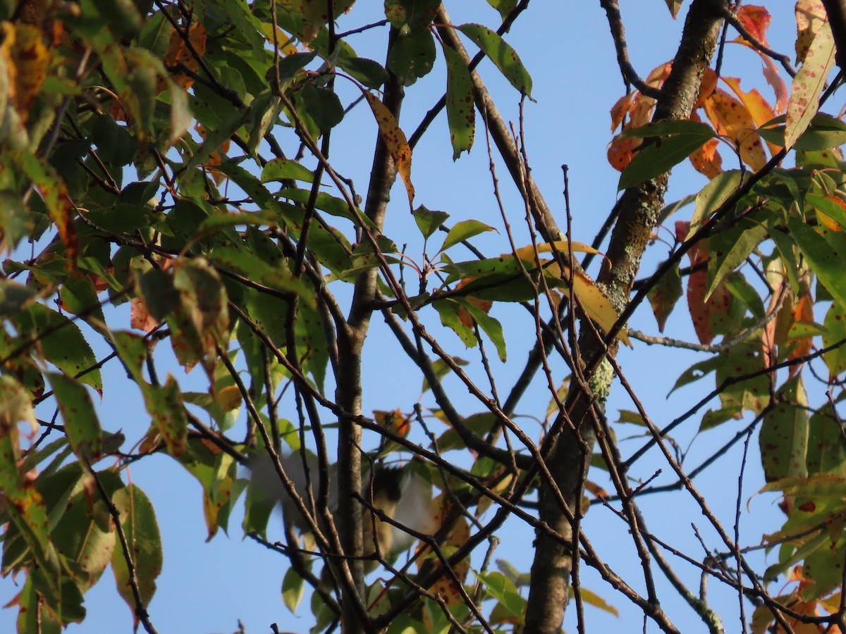
<path id="1" fill-rule="evenodd" d="M 690 5 L 673 70 L 658 98 L 654 121 L 689 118 L 702 77 L 717 46 L 722 25 L 721 11 L 725 7 L 723 0 L 695 0 Z M 623 309 L 628 301 L 640 258 L 664 205 L 667 176 L 663 174 L 626 190 L 620 201 L 620 214 L 607 249 L 610 266 L 603 270 L 598 280 L 618 310 Z M 589 325 L 582 325 L 579 347 L 580 358 L 584 362 L 602 352 L 602 342 L 596 340 Z M 599 369 L 607 369 L 607 362 L 602 363 Z M 586 378 L 591 392 L 600 396 L 599 405 L 602 407 L 612 374 L 610 371 L 594 371 Z M 557 421 L 562 429 L 561 435 L 547 460 L 566 507 L 561 504 L 558 492 L 549 484 L 541 483 L 539 495 L 541 521 L 575 546 L 578 539 L 574 539 L 574 528 L 578 527 L 587 467 L 596 443 L 596 430 L 591 418 L 595 413 L 591 414 L 590 396 L 578 389 L 571 391 L 566 410 L 569 415 L 562 413 Z M 571 548 L 545 533 L 536 534 L 525 632 L 560 631 L 569 601 L 573 563 Z M 578 584 L 579 579 L 574 578 L 573 582 Z"/>

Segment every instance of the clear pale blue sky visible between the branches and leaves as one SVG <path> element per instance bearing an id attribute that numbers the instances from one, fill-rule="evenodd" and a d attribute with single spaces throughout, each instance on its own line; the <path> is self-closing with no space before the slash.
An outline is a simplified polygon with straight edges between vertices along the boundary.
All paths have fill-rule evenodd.
<path id="1" fill-rule="evenodd" d="M 673 57 L 682 23 L 671 19 L 663 0 L 623 4 L 630 55 L 635 68 L 641 75 L 645 75 L 657 64 Z M 795 36 L 792 3 L 771 4 L 773 25 L 769 33 L 770 42 L 777 50 L 792 55 Z M 339 30 L 380 19 L 380 9 L 381 3 L 360 0 L 352 14 L 339 21 Z M 473 21 L 493 28 L 498 25 L 497 13 L 482 0 L 448 3 L 448 9 L 456 24 Z M 360 56 L 382 61 L 384 36 L 385 30 L 382 29 L 372 34 L 352 36 L 349 43 Z M 548 204 L 558 213 L 559 223 L 563 224 L 561 165 L 566 163 L 569 166 L 574 239 L 590 243 L 617 195 L 618 172 L 609 167 L 606 159 L 607 143 L 612 138 L 608 111 L 624 93 L 605 15 L 596 2 L 556 3 L 536 0 L 514 25 L 507 40 L 519 52 L 534 79 L 533 96 L 536 103 L 527 103 L 525 106 L 525 140 L 532 175 Z M 738 45 L 728 46 L 724 74 L 743 77 L 744 88 L 758 86 L 772 101 L 772 92 L 766 88 L 760 68 L 760 58 L 753 52 Z M 492 63 L 482 63 L 479 72 L 492 90 L 503 116 L 516 123 L 519 116 L 517 93 L 500 77 Z M 406 91 L 400 123 L 407 134 L 442 94 L 444 82 L 442 57 L 439 57 L 436 70 Z M 340 87 L 339 90 L 342 96 L 351 98 L 354 95 L 351 87 L 349 90 Z M 492 197 L 492 179 L 488 172 L 488 156 L 480 118 L 477 118 L 477 126 L 474 149 L 469 156 L 464 155 L 453 163 L 446 117 L 443 113 L 439 115 L 415 149 L 412 168 L 417 191 L 415 204 L 426 205 L 432 210 L 448 211 L 451 222 L 475 218 L 497 227 L 499 232 L 482 236 L 477 245 L 486 254 L 499 254 L 508 250 L 508 243 L 496 201 Z M 332 133 L 332 164 L 344 176 L 354 178 L 360 194 L 366 189 L 375 134 L 371 113 L 365 107 L 356 108 Z M 724 161 L 728 167 L 728 153 Z M 518 245 L 528 243 L 528 233 L 521 223 L 523 204 L 508 179 L 502 161 L 497 161 L 497 175 Z M 667 199 L 694 193 L 705 183 L 705 178 L 689 167 L 679 167 L 673 174 Z M 401 184 L 393 189 L 385 233 L 397 243 L 407 241 L 409 254 L 419 253 L 419 234 L 410 221 Z M 666 254 L 666 249 L 660 244 L 656 245 L 645 260 L 644 270 L 651 271 Z M 466 255 L 470 257 L 470 254 Z M 331 290 L 343 297 L 344 292 L 336 286 L 332 286 Z M 493 361 L 501 390 L 507 391 L 522 369 L 525 355 L 533 342 L 533 332 L 525 315 L 514 309 L 497 307 L 492 314 L 503 321 L 508 337 L 508 363 Z M 118 309 L 115 315 L 119 327 L 128 327 L 125 307 Z M 432 315 L 429 315 L 428 319 L 437 324 L 437 317 L 433 320 Z M 126 321 L 121 323 L 119 320 Z M 656 334 L 655 320 L 648 306 L 639 310 L 632 325 Z M 667 329 L 672 331 L 673 336 L 695 339 L 683 303 L 679 304 L 670 318 Z M 472 362 L 478 361 L 478 353 L 464 349 L 457 337 L 449 331 L 443 331 L 439 336 L 450 353 Z M 373 409 L 391 410 L 397 407 L 410 411 L 417 401 L 420 396 L 420 378 L 417 374 L 403 370 L 402 356 L 387 327 L 377 316 L 373 320 L 365 347 L 365 381 L 369 382 L 365 385 L 365 413 Z M 666 424 L 678 413 L 684 412 L 703 393 L 705 386 L 708 390 L 712 388 L 711 380 L 706 379 L 702 385 L 695 384 L 667 398 L 667 392 L 678 374 L 699 358 L 678 350 L 663 351 L 645 347 L 639 342 L 634 343 L 634 350 L 623 350 L 619 357 L 634 390 L 659 425 Z M 167 368 L 167 364 L 162 367 Z M 553 369 L 560 373 L 560 380 L 563 367 L 560 363 L 553 363 Z M 176 369 L 172 371 L 177 372 Z M 471 370 L 470 374 L 481 385 L 486 385 L 484 375 L 478 369 Z M 119 366 L 107 367 L 104 380 L 106 385 L 100 410 L 102 424 L 107 429 L 124 429 L 130 440 L 137 440 L 143 432 L 137 431 L 133 435 L 132 430 L 146 429 L 148 424 L 140 399 L 131 390 L 131 385 L 128 389 L 124 371 Z M 199 370 L 188 377 L 179 376 L 179 380 L 181 385 L 189 389 L 204 389 Z M 447 380 L 447 385 L 454 394 L 459 395 L 456 398 L 462 413 L 471 414 L 481 409 L 478 403 L 464 396 L 466 390 L 456 380 Z M 548 401 L 547 387 L 543 380 L 538 380 L 518 409 L 520 413 L 542 417 Z M 433 403 L 430 399 L 424 400 L 424 404 L 431 406 Z M 607 406 L 610 420 L 616 420 L 619 408 L 633 409 L 620 386 L 615 385 Z M 526 432 L 537 438 L 539 428 L 536 423 L 529 418 L 520 418 L 519 421 L 521 424 L 525 422 Z M 696 424 L 690 421 L 689 429 L 678 431 L 677 438 L 681 446 L 686 447 L 694 440 Z M 698 463 L 697 458 L 709 456 L 715 447 L 722 445 L 729 435 L 740 429 L 732 425 L 727 424 L 717 431 L 695 438 L 689 452 L 689 464 L 695 465 Z M 620 439 L 638 433 L 634 428 L 618 428 Z M 623 440 L 624 454 L 634 451 L 641 442 L 636 438 Z M 780 527 L 782 522 L 781 513 L 771 496 L 754 495 L 762 484 L 756 446 L 753 441 L 742 495 L 742 527 L 744 542 L 747 544 L 756 543 L 761 532 L 772 531 Z M 742 446 L 736 446 L 698 482 L 713 504 L 717 516 L 727 527 L 732 526 L 734 519 L 740 451 Z M 639 463 L 635 475 L 649 478 L 659 467 L 664 467 L 664 471 L 656 478 L 655 484 L 672 482 L 672 474 L 654 453 Z M 158 579 L 157 596 L 149 606 L 151 620 L 158 631 L 162 634 L 177 631 L 184 634 L 230 632 L 237 629 L 239 619 L 249 634 L 265 634 L 270 631 L 269 626 L 273 622 L 278 624 L 281 631 L 307 630 L 310 626 L 308 604 L 304 602 L 297 615 L 291 615 L 280 598 L 279 589 L 287 567 L 286 560 L 249 539 L 243 539 L 238 512 L 230 522 L 228 536 L 221 533 L 206 543 L 201 488 L 189 473 L 167 456 L 151 456 L 131 468 L 131 478 L 151 498 L 162 528 L 165 563 L 162 576 Z M 700 527 L 709 546 L 719 547 L 714 533 L 706 526 L 698 508 L 693 506 L 686 495 L 678 494 L 669 498 L 647 496 L 640 503 L 649 526 L 679 549 L 698 558 L 704 556 L 691 522 Z M 274 525 L 281 538 L 279 518 L 274 519 Z M 601 507 L 594 507 L 586 516 L 584 528 L 607 564 L 622 577 L 633 580 L 634 587 L 642 590 L 639 562 L 627 537 L 624 522 Z M 519 522 L 513 521 L 508 523 L 499 537 L 502 538 L 502 544 L 495 556 L 510 561 L 521 571 L 528 571 L 534 556 L 531 549 L 532 533 Z M 698 588 L 699 580 L 695 571 L 681 567 L 679 572 L 691 588 Z M 631 606 L 622 595 L 616 594 L 589 570 L 585 571 L 583 584 L 621 610 L 618 620 L 588 608 L 586 618 L 590 631 L 603 631 L 607 627 L 640 631 L 642 616 L 639 609 Z M 713 606 L 723 616 L 728 629 L 733 629 L 738 618 L 736 595 L 717 588 L 713 583 L 710 590 L 709 598 Z M 0 601 L 5 603 L 16 592 L 17 588 L 10 579 L 0 581 Z M 668 590 L 662 585 L 660 594 L 662 598 L 666 597 L 667 603 L 663 607 L 678 626 L 683 626 L 684 631 L 704 631 L 695 615 L 672 589 Z M 107 571 L 102 581 L 86 595 L 86 606 L 89 611 L 85 622 L 80 626 L 69 626 L 69 634 L 130 631 L 132 621 L 129 609 L 118 598 L 110 572 Z M 0 611 L 0 631 L 13 630 L 15 614 L 14 609 Z M 565 629 L 575 630 L 574 610 L 567 617 Z M 647 631 L 656 631 L 656 628 L 650 625 Z"/>

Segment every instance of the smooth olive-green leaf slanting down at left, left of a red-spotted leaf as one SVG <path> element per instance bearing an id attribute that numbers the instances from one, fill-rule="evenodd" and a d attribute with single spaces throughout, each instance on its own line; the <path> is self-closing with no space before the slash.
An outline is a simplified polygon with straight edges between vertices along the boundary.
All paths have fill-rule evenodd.
<path id="1" fill-rule="evenodd" d="M 79 382 L 64 374 L 48 373 L 53 395 L 62 413 L 64 431 L 74 453 L 85 460 L 102 455 L 102 430 L 94 411 L 91 395 Z"/>

